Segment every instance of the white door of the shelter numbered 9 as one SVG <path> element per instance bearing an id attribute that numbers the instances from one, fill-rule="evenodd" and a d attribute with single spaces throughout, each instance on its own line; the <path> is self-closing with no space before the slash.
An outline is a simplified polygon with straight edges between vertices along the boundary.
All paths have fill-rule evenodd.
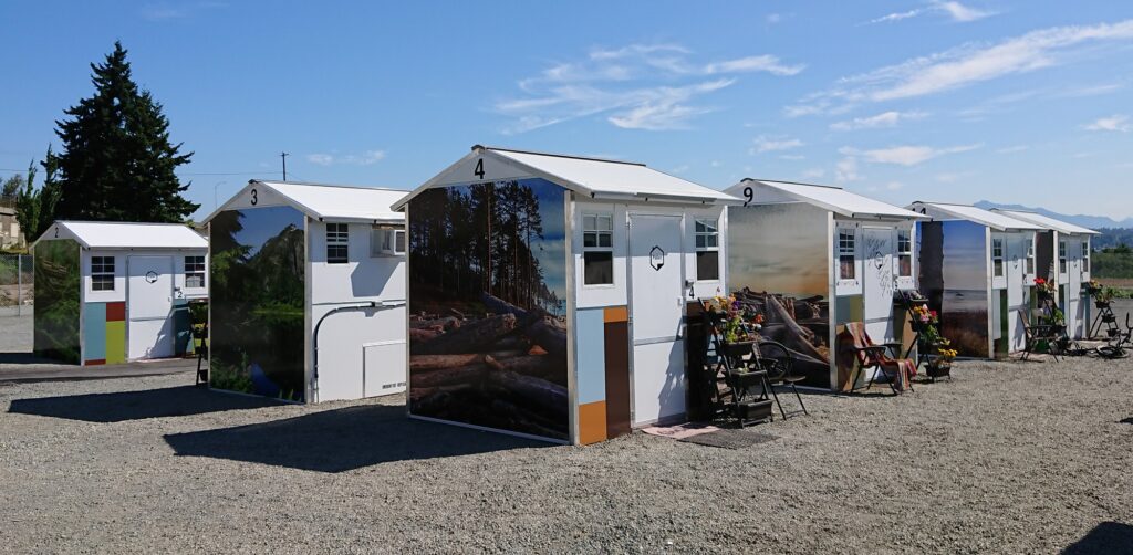
<path id="1" fill-rule="evenodd" d="M 893 339 L 893 230 L 864 228 L 862 311 L 866 332 L 875 342 Z"/>

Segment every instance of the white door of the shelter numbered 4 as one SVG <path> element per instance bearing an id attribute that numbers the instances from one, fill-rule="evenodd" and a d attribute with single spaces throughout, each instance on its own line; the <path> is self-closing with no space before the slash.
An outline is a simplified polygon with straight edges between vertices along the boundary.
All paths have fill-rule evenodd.
<path id="1" fill-rule="evenodd" d="M 633 424 L 684 413 L 681 217 L 630 215 Z"/>

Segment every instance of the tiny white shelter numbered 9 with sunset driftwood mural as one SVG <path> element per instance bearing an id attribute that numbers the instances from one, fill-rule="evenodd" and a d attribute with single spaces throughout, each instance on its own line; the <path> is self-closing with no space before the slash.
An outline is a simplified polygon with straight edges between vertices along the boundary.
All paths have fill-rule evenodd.
<path id="1" fill-rule="evenodd" d="M 850 323 L 913 347 L 894 297 L 917 288 L 914 223 L 925 216 L 820 185 L 744 179 L 725 193 L 743 199 L 729 210 L 729 284 L 759 297 L 761 334 L 792 351 L 800 385 L 845 391 L 870 378 L 840 356 Z"/>

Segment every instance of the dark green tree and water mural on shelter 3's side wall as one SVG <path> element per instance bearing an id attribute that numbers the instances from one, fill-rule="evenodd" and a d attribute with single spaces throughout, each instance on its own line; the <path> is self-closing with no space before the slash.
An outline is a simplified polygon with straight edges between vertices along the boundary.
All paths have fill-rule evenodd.
<path id="1" fill-rule="evenodd" d="M 211 222 L 211 387 L 305 396 L 304 215 L 232 210 Z"/>

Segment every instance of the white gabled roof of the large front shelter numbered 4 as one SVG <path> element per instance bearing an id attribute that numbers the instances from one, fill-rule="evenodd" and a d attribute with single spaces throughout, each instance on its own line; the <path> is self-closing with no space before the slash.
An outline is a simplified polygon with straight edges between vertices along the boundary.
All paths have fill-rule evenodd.
<path id="1" fill-rule="evenodd" d="M 566 189 L 597 199 L 661 203 L 738 204 L 740 200 L 645 164 L 562 154 L 547 154 L 476 145 L 453 166 L 476 157 L 494 157 L 533 177 L 542 177 Z M 450 166 L 453 168 L 453 166 Z M 426 189 L 443 183 L 445 170 L 394 205 L 401 210 Z"/>

